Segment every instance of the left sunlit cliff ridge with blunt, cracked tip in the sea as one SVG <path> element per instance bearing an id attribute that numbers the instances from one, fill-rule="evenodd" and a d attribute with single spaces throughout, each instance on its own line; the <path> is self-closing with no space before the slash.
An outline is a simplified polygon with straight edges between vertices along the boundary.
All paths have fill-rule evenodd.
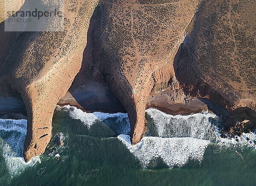
<path id="1" fill-rule="evenodd" d="M 30 3 L 26 1 L 22 8 Z M 20 94 L 26 106 L 26 161 L 43 154 L 52 136 L 53 111 L 79 72 L 96 4 L 93 0 L 65 1 L 63 32 L 4 32 L 1 25 L 1 46 L 8 38 L 12 42 L 1 55 L 0 83 L 3 89 L 10 87 L 6 93 Z"/>

